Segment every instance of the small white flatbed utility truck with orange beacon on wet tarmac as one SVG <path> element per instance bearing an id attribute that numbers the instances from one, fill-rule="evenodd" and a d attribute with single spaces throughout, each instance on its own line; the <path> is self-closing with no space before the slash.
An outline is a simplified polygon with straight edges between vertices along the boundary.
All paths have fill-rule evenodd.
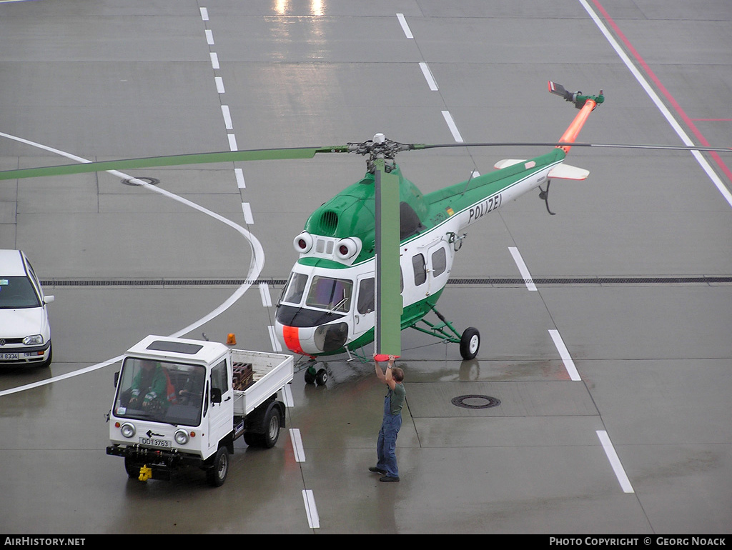
<path id="1" fill-rule="evenodd" d="M 196 466 L 223 485 L 234 440 L 276 444 L 285 425 L 277 392 L 292 378 L 291 355 L 147 336 L 115 374 L 107 454 L 124 457 L 127 475 L 141 481 Z"/>

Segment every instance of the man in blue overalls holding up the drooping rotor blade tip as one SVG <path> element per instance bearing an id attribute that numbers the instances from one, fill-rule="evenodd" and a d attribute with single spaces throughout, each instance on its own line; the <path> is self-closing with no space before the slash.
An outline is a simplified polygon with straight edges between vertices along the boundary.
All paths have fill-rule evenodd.
<path id="1" fill-rule="evenodd" d="M 402 407 L 406 398 L 406 389 L 402 381 L 404 372 L 398 366 L 394 366 L 394 355 L 389 355 L 389 363 L 386 365 L 386 372 L 381 370 L 380 361 L 383 356 L 374 354 L 376 363 L 376 377 L 386 384 L 389 390 L 384 396 L 384 420 L 381 422 L 381 430 L 378 432 L 376 442 L 376 456 L 378 462 L 369 471 L 381 474 L 379 481 L 399 481 L 399 469 L 397 468 L 397 435 L 402 426 Z"/>

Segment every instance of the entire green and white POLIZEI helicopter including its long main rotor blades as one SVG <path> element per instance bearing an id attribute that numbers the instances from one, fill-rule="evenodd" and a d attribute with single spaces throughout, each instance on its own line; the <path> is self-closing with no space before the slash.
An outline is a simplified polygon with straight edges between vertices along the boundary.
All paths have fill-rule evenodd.
<path id="1" fill-rule="evenodd" d="M 102 170 L 190 165 L 251 160 L 309 159 L 315 154 L 354 153 L 367 157 L 365 176 L 316 209 L 293 240 L 299 254 L 275 311 L 280 344 L 308 359 L 307 383 L 324 383 L 317 358 L 353 354 L 374 343 L 382 358 L 400 354 L 400 332 L 414 328 L 445 342 L 459 344 L 463 359 L 477 356 L 480 334 L 462 333 L 436 309 L 447 285 L 466 228 L 521 195 L 539 188 L 550 211 L 548 194 L 554 179 L 583 180 L 589 171 L 564 163 L 570 148 L 651 148 L 731 152 L 731 148 L 578 143 L 589 114 L 605 101 L 598 95 L 567 91 L 548 82 L 552 94 L 575 105 L 579 113 L 549 143 L 404 144 L 376 134 L 372 140 L 344 146 L 268 148 L 83 162 L 75 165 L 0 170 L 0 180 L 60 176 Z M 504 159 L 496 170 L 422 194 L 401 173 L 395 156 L 428 148 L 482 146 L 551 146 L 532 159 Z M 542 187 L 542 186 L 546 187 Z M 425 317 L 434 313 L 438 322 Z"/>

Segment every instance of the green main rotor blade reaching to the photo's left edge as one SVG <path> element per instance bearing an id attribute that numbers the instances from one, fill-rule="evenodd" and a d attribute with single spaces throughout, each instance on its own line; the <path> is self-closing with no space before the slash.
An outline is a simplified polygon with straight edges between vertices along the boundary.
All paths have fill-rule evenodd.
<path id="1" fill-rule="evenodd" d="M 35 178 L 37 176 L 64 176 L 67 174 L 102 172 L 105 170 L 132 170 L 135 168 L 152 168 L 158 166 L 208 164 L 214 162 L 311 159 L 318 153 L 348 153 L 348 146 L 250 149 L 248 151 L 221 151 L 218 153 L 193 153 L 167 157 L 80 162 L 71 165 L 2 170 L 0 171 L 0 180 Z"/>

